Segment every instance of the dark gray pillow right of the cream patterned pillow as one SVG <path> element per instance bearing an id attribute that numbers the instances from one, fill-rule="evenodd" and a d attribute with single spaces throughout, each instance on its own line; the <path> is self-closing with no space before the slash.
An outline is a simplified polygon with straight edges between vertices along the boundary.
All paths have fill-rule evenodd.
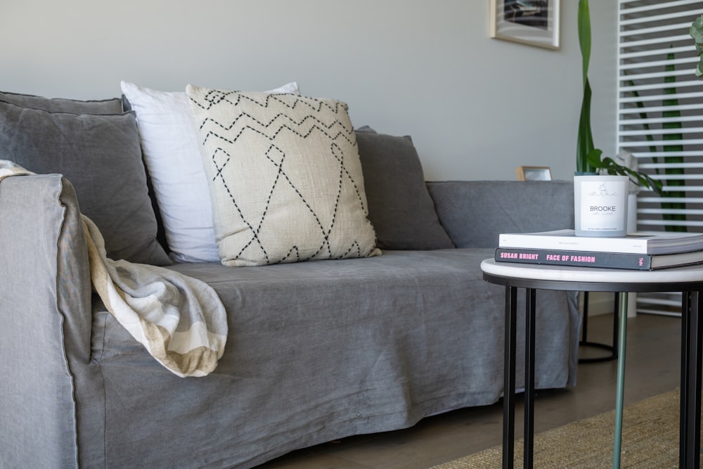
<path id="1" fill-rule="evenodd" d="M 356 143 L 377 245 L 388 250 L 453 248 L 427 192 L 420 157 L 409 136 L 356 129 Z"/>

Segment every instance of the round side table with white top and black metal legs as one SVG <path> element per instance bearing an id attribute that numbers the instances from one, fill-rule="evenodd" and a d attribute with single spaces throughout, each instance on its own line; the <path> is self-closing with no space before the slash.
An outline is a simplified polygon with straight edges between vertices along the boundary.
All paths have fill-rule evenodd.
<path id="1" fill-rule="evenodd" d="M 681 416 L 679 467 L 700 464 L 701 362 L 703 342 L 703 265 L 655 271 L 596 269 L 593 267 L 513 264 L 485 259 L 485 281 L 505 285 L 505 375 L 503 389 L 503 468 L 512 468 L 515 453 L 515 347 L 517 289 L 526 294 L 524 467 L 531 468 L 534 449 L 534 348 L 536 290 L 575 290 L 614 293 L 680 291 Z M 620 467 L 622 409 L 627 332 L 627 296 L 619 295 L 618 372 L 615 402 L 613 468 Z"/>

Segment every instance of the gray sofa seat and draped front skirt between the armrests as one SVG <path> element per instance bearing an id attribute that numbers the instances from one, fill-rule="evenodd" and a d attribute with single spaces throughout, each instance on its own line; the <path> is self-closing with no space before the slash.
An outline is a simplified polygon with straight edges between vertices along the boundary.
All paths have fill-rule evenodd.
<path id="1" fill-rule="evenodd" d="M 505 289 L 486 283 L 479 268 L 492 252 L 169 267 L 217 290 L 228 311 L 227 347 L 214 373 L 182 380 L 98 311 L 92 356 L 110 383 L 107 465 L 169 458 L 184 467 L 252 467 L 292 449 L 494 403 L 503 392 Z M 578 311 L 564 292 L 540 291 L 537 301 L 537 386 L 573 384 Z M 188 425 L 165 432 L 166 421 Z M 174 443 L 196 430 L 208 451 Z"/>

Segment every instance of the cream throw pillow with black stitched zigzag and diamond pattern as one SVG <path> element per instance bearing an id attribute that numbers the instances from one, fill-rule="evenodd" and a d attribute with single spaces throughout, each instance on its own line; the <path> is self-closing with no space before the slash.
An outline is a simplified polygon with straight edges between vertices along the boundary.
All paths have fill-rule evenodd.
<path id="1" fill-rule="evenodd" d="M 378 255 L 347 105 L 186 89 L 222 264 Z"/>

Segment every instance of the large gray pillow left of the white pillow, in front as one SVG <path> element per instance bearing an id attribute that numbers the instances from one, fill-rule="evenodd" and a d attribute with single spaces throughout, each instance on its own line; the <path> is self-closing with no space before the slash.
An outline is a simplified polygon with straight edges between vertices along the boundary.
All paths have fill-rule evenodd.
<path id="1" fill-rule="evenodd" d="M 71 182 L 108 257 L 171 264 L 156 240 L 134 113 L 49 113 L 0 101 L 0 129 L 1 160 Z"/>

